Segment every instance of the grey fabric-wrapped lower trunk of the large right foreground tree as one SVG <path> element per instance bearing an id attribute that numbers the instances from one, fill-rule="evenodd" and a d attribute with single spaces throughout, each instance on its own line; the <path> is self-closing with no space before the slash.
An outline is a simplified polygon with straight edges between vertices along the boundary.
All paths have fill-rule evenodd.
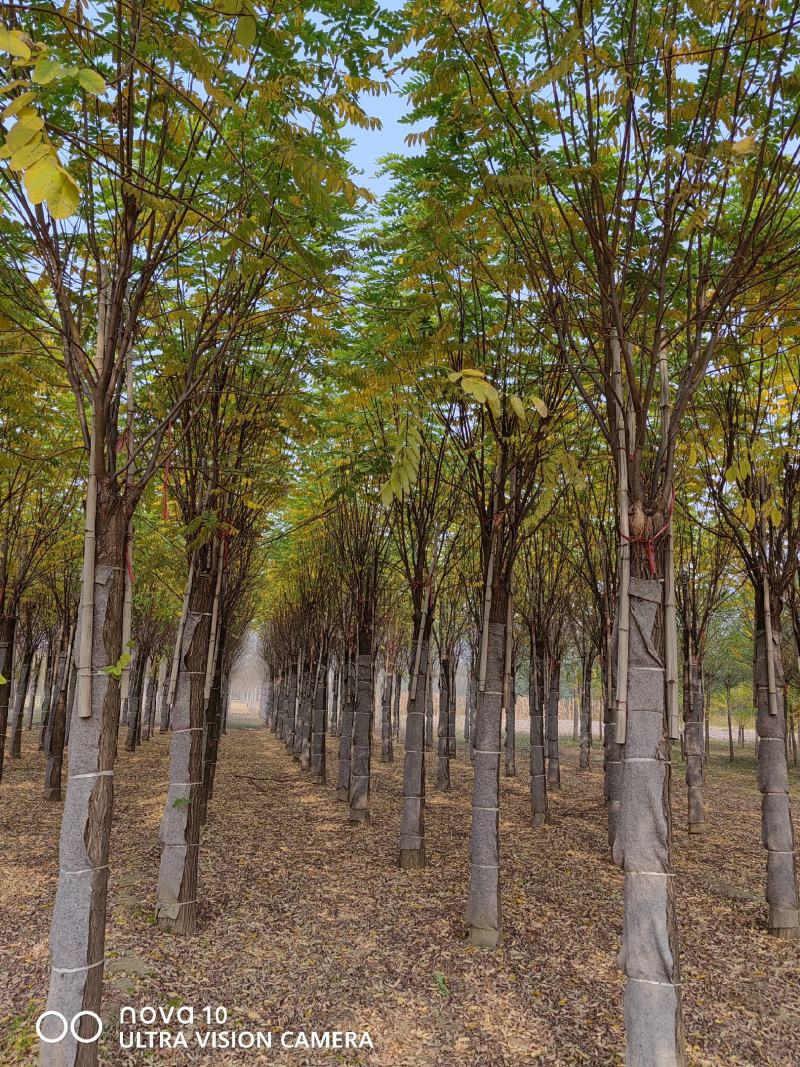
<path id="1" fill-rule="evenodd" d="M 646 562 L 644 564 L 646 567 Z M 630 577 L 622 806 L 613 844 L 625 872 L 620 964 L 628 1064 L 686 1063 L 672 877 L 663 582 Z"/>

